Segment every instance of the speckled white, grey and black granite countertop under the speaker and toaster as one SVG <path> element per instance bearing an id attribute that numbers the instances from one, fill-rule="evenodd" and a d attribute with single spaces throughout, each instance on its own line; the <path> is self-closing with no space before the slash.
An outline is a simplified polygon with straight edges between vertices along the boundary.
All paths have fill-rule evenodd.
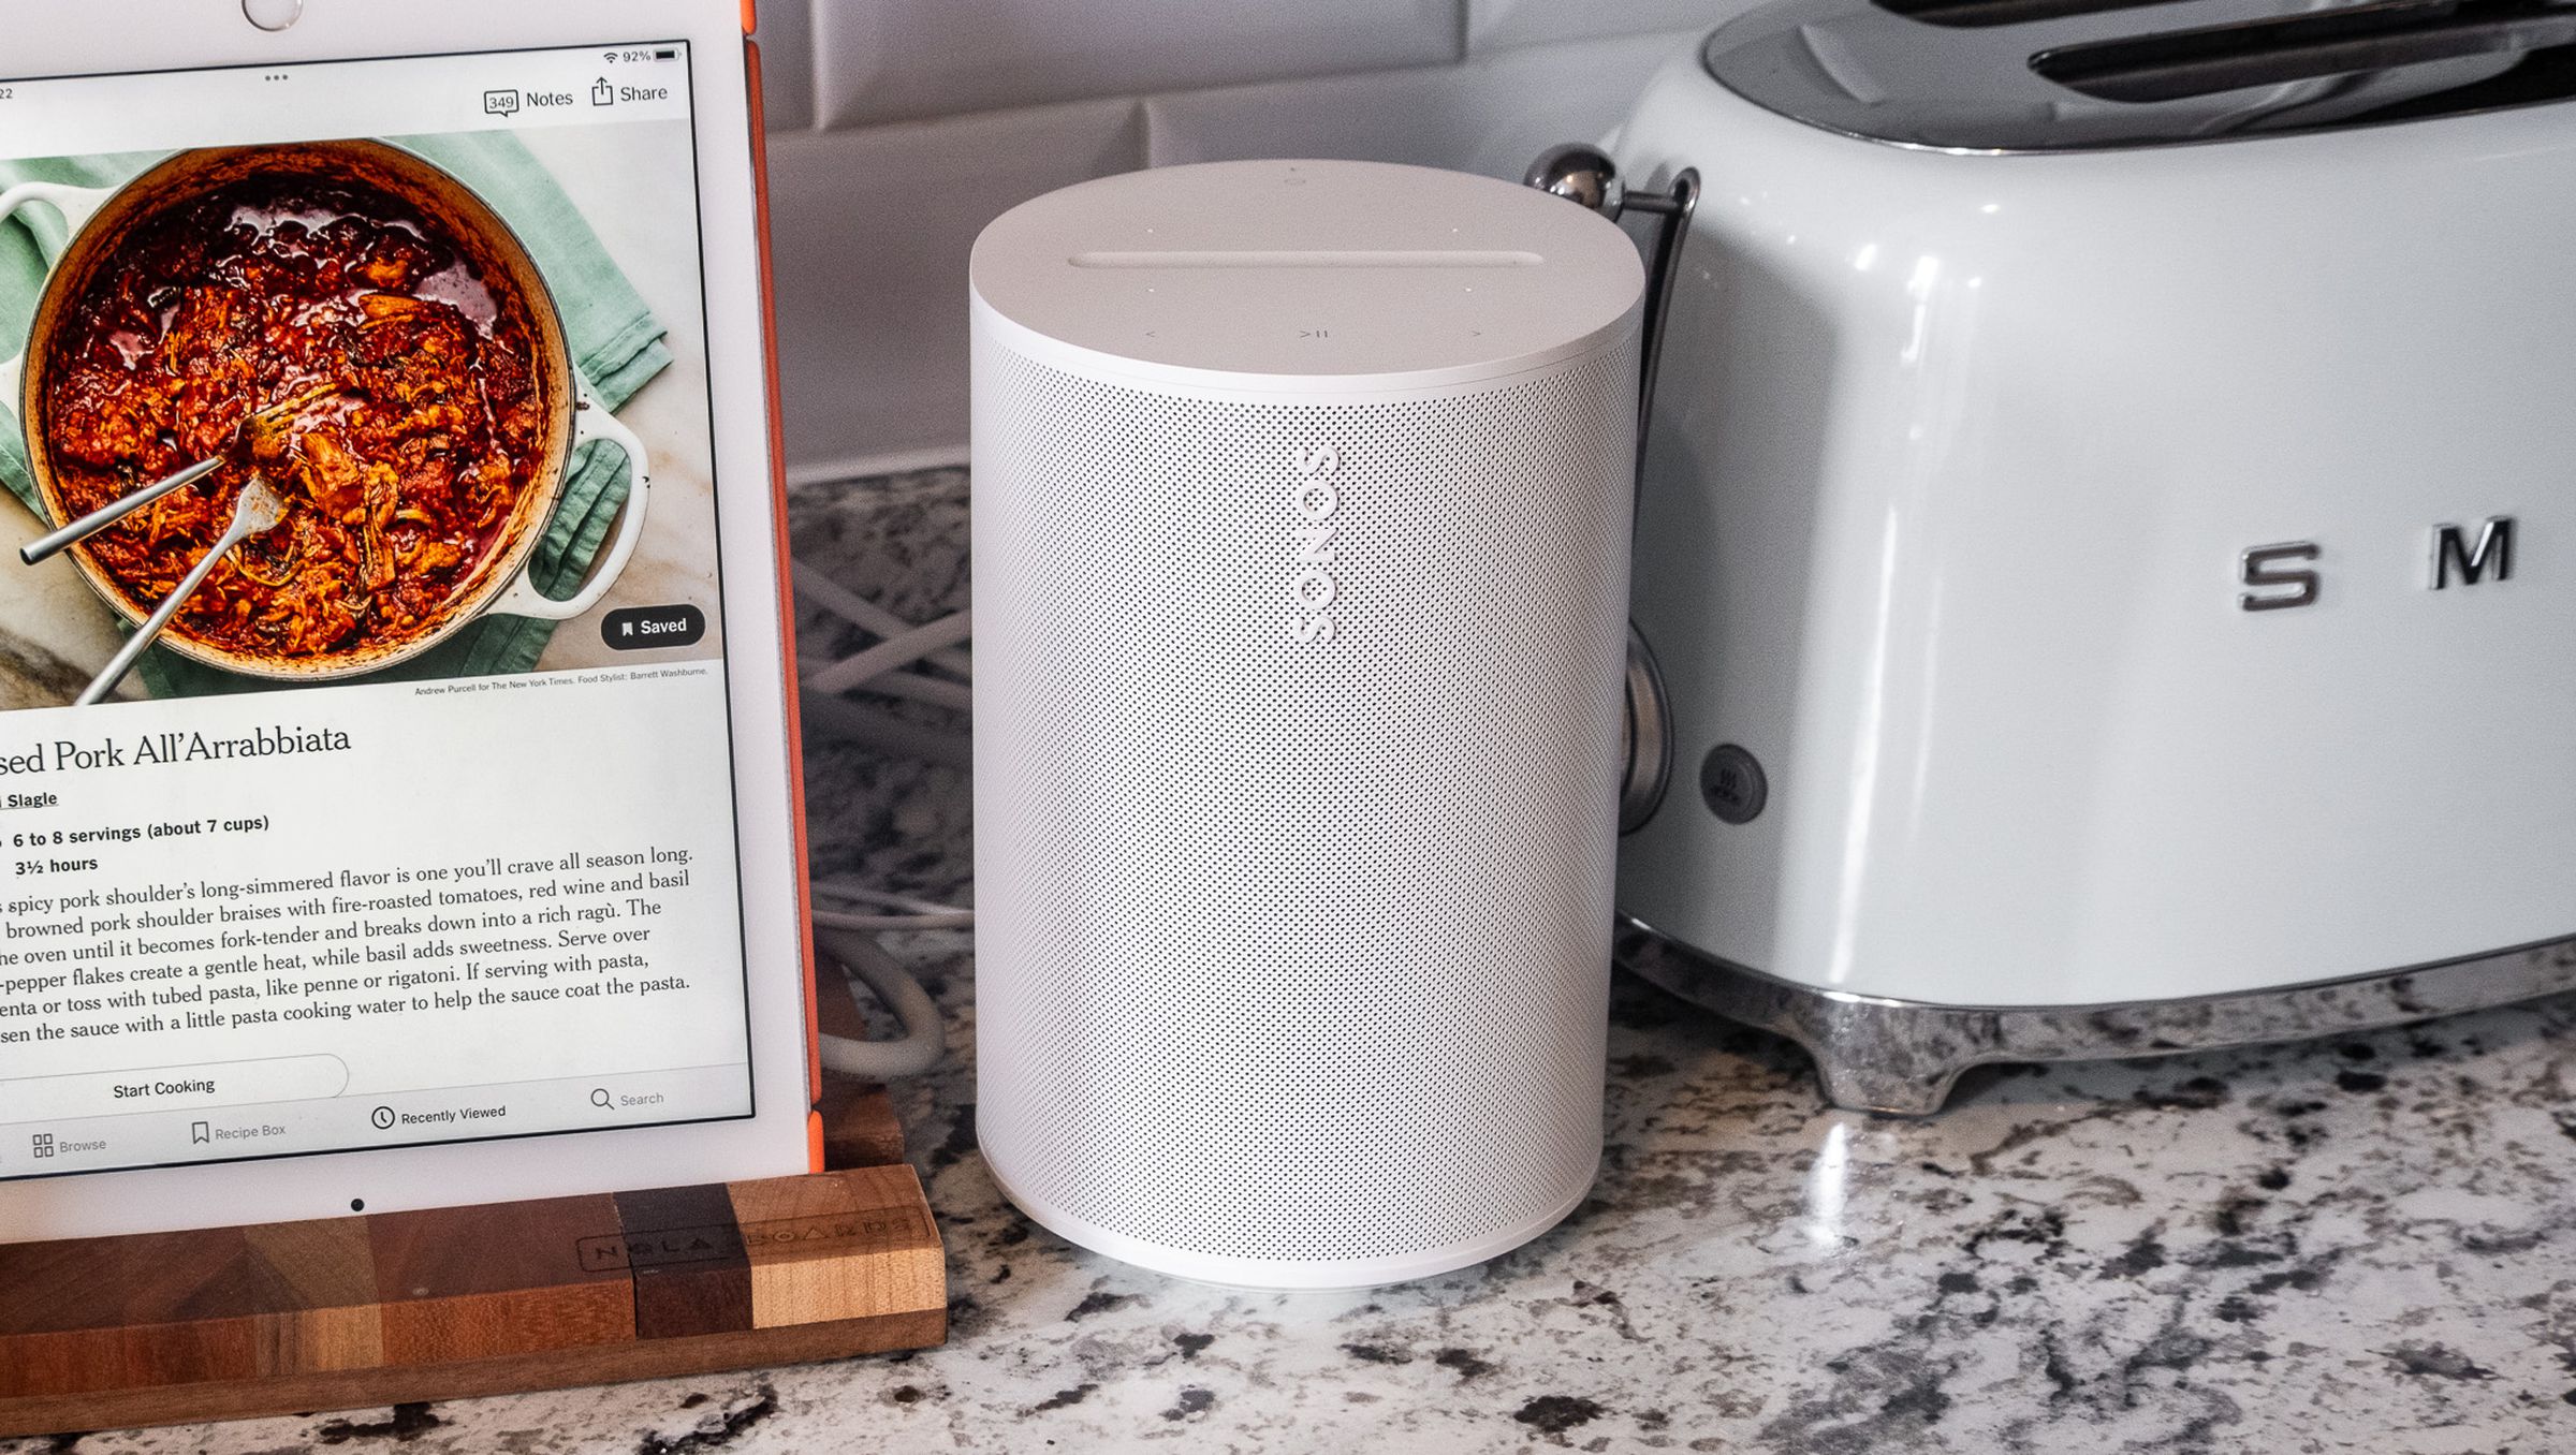
<path id="1" fill-rule="evenodd" d="M 963 479 L 799 492 L 796 549 L 927 618 L 963 597 Z M 966 894 L 963 773 L 814 742 L 809 793 L 824 870 Z M 1623 976 L 1574 1218 L 1430 1282 L 1275 1295 L 1015 1216 L 974 1151 L 971 945 L 899 948 L 953 1017 L 956 1056 L 899 1089 L 948 1347 L 0 1452 L 2576 1450 L 2571 999 L 1989 1069 L 1886 1120 Z"/>

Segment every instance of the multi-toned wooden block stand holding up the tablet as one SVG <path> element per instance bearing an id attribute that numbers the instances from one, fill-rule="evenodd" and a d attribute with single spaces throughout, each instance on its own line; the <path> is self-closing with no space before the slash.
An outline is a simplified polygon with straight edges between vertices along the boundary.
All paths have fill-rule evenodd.
<path id="1" fill-rule="evenodd" d="M 886 1094 L 827 1084 L 824 1151 L 835 1172 L 770 1182 L 0 1244 L 0 1437 L 943 1342 L 945 1254 Z"/>

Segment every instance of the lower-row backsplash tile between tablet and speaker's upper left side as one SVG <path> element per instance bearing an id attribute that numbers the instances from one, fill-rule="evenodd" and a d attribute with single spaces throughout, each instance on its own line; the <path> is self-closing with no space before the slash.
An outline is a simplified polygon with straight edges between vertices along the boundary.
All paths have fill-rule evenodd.
<path id="1" fill-rule="evenodd" d="M 1133 100 L 773 136 L 788 466 L 866 474 L 963 446 L 976 232 L 1038 193 L 1139 165 Z"/>

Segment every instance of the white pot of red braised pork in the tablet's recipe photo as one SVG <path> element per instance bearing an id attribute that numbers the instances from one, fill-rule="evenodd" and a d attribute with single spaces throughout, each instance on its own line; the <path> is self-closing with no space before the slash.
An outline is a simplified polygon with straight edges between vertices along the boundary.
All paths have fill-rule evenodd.
<path id="1" fill-rule="evenodd" d="M 26 183 L 72 242 L 0 399 L 46 525 L 201 461 L 214 471 L 82 538 L 90 587 L 142 623 L 214 546 L 252 474 L 281 523 L 234 546 L 162 644 L 270 680 L 376 672 L 484 613 L 590 610 L 644 525 L 641 443 L 587 397 L 544 276 L 471 188 L 381 142 L 178 152 L 124 188 Z M 528 582 L 580 446 L 634 489 L 569 597 Z"/>

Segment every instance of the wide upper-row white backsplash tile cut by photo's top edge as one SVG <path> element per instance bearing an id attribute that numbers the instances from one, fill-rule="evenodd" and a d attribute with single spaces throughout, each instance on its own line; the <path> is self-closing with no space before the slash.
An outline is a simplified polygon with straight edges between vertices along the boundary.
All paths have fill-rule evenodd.
<path id="1" fill-rule="evenodd" d="M 1412 67 L 1458 46 L 1458 0 L 814 0 L 829 126 Z"/>

